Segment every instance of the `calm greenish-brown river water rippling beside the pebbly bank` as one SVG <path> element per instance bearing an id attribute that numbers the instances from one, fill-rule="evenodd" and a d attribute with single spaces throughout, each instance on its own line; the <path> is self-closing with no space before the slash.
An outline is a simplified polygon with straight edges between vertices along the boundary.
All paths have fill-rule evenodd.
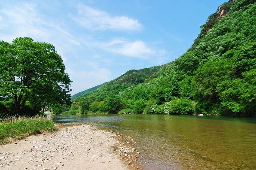
<path id="1" fill-rule="evenodd" d="M 118 130 L 137 142 L 145 169 L 256 170 L 256 118 L 176 115 L 54 116 Z"/>

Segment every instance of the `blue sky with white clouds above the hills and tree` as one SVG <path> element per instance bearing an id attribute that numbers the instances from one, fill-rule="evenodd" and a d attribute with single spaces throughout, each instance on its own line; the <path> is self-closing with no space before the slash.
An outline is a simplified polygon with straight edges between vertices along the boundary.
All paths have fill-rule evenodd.
<path id="1" fill-rule="evenodd" d="M 0 40 L 51 43 L 71 94 L 174 61 L 224 0 L 1 0 Z"/>

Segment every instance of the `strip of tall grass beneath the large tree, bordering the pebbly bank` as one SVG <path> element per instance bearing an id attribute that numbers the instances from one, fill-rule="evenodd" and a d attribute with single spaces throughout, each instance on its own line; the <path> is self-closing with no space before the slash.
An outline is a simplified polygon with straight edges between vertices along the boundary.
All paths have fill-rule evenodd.
<path id="1" fill-rule="evenodd" d="M 0 144 L 55 130 L 53 121 L 44 117 L 5 118 L 0 120 Z"/>

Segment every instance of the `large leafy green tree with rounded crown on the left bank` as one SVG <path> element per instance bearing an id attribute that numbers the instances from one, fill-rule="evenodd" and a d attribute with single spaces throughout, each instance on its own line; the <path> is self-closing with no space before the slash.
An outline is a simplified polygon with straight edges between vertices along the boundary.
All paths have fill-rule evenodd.
<path id="1" fill-rule="evenodd" d="M 70 82 L 53 45 L 30 37 L 0 41 L 0 96 L 13 100 L 15 114 L 22 114 L 25 103 L 34 113 L 68 103 Z"/>

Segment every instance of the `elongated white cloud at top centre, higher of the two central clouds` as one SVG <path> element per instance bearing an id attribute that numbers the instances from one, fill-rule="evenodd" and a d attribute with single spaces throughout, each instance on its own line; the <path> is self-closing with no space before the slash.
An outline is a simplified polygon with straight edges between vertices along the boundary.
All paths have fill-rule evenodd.
<path id="1" fill-rule="evenodd" d="M 71 18 L 88 30 L 142 30 L 138 20 L 127 16 L 111 16 L 105 11 L 93 9 L 90 6 L 77 6 L 78 15 Z"/>

